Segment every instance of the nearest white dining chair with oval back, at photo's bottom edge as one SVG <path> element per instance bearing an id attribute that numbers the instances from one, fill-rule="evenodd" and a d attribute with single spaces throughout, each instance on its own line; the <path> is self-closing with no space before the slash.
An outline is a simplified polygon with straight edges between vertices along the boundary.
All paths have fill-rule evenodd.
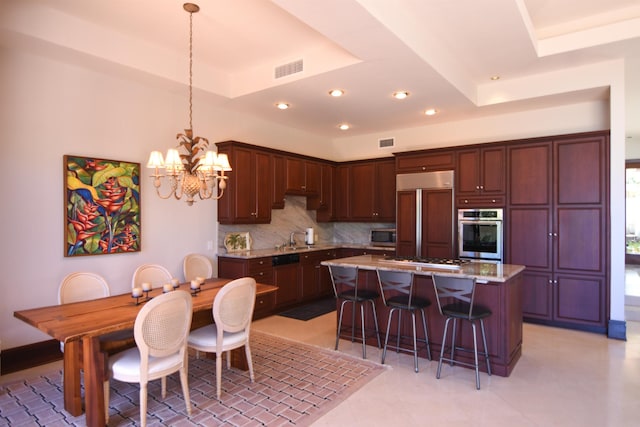
<path id="1" fill-rule="evenodd" d="M 161 393 L 167 395 L 166 376 L 180 372 L 180 383 L 187 413 L 191 401 L 187 379 L 187 336 L 191 327 L 192 302 L 186 291 L 173 291 L 145 303 L 136 316 L 133 333 L 136 347 L 109 358 L 109 377 L 140 384 L 140 423 L 147 424 L 147 383 L 161 379 Z M 109 381 L 104 384 L 107 421 L 109 417 Z"/>

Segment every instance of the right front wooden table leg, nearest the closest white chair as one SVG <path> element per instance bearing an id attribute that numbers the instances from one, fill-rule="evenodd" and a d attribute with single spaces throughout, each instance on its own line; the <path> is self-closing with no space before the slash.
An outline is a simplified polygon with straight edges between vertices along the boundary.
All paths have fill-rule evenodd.
<path id="1" fill-rule="evenodd" d="M 84 361 L 84 400 L 87 426 L 104 426 L 104 380 L 106 355 L 100 351 L 98 337 L 82 339 Z"/>

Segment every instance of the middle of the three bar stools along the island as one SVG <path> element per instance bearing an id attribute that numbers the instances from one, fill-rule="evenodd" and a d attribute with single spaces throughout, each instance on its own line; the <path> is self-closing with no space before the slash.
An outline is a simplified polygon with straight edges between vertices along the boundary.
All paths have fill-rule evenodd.
<path id="1" fill-rule="evenodd" d="M 424 309 L 431 305 L 431 301 L 427 298 L 417 297 L 414 295 L 413 273 L 410 271 L 385 271 L 378 270 L 378 283 L 384 305 L 389 311 L 389 320 L 387 321 L 387 334 L 384 339 L 384 348 L 382 350 L 382 364 L 387 355 L 387 344 L 389 342 L 389 330 L 391 329 L 391 320 L 393 314 L 398 313 L 398 332 L 396 334 L 396 352 L 410 351 L 400 347 L 402 312 L 407 311 L 411 314 L 411 327 L 413 330 L 413 360 L 415 371 L 418 372 L 418 341 L 424 341 L 427 346 L 427 357 L 431 360 L 431 347 L 429 346 L 429 333 L 427 332 L 427 318 Z M 422 314 L 422 328 L 424 331 L 424 340 L 418 340 L 416 333 L 416 312 Z"/>

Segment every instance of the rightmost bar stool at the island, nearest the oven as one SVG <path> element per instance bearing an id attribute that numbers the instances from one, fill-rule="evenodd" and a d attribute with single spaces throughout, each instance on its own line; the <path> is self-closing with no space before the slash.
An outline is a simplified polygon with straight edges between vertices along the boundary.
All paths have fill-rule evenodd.
<path id="1" fill-rule="evenodd" d="M 491 364 L 489 362 L 489 352 L 487 350 L 487 336 L 484 330 L 484 318 L 491 316 L 491 310 L 475 304 L 476 280 L 466 277 L 449 277 L 432 275 L 433 287 L 438 300 L 438 310 L 447 320 L 444 323 L 444 333 L 442 334 L 442 348 L 440 349 L 440 361 L 438 362 L 438 372 L 436 378 L 440 378 L 442 361 L 447 361 L 453 366 L 459 365 L 475 368 L 476 389 L 480 390 L 480 374 L 478 370 L 478 343 L 476 338 L 476 321 L 480 321 L 482 332 L 482 344 L 484 346 L 484 358 L 487 364 L 487 373 L 491 375 Z M 447 344 L 447 331 L 449 321 L 453 319 L 453 330 L 451 332 L 451 357 L 444 357 L 444 348 Z M 456 323 L 458 319 L 467 320 L 471 323 L 473 330 L 473 350 L 461 346 L 456 347 Z M 455 360 L 455 350 L 473 351 L 474 364 Z"/>

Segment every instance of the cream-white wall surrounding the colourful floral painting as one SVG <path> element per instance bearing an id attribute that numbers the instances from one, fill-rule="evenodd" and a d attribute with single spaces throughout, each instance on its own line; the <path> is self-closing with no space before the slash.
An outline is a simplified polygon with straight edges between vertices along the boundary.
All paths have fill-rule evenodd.
<path id="1" fill-rule="evenodd" d="M 207 251 L 207 242 L 217 247 L 217 203 L 188 207 L 184 201 L 160 200 L 145 167 L 152 149 L 174 147 L 175 135 L 188 127 L 187 88 L 114 75 L 119 74 L 113 67 L 107 74 L 0 47 L 2 348 L 49 338 L 13 312 L 56 304 L 60 280 L 72 271 L 99 273 L 112 292 L 122 293 L 129 291 L 131 275 L 142 263 L 163 264 L 182 277 L 186 253 L 214 259 L 215 249 Z M 145 80 L 150 83 L 141 83 Z M 195 95 L 195 133 L 211 143 L 277 140 L 293 147 L 300 140 L 315 142 L 311 135 L 208 108 Z M 141 252 L 63 256 L 65 154 L 141 163 Z"/>

